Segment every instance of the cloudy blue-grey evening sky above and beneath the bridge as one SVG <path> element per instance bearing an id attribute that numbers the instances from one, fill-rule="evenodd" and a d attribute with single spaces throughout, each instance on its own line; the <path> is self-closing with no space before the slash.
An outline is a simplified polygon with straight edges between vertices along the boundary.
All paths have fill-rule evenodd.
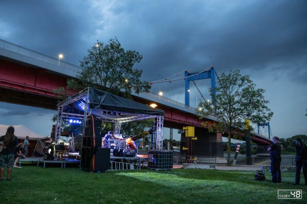
<path id="1" fill-rule="evenodd" d="M 117 37 L 142 56 L 142 80 L 214 66 L 266 90 L 273 136 L 307 135 L 307 1 L 0 1 L 0 39 L 80 65 L 97 40 Z M 180 78 L 180 75 L 179 75 Z M 173 78 L 176 79 L 176 78 Z M 210 80 L 196 81 L 209 98 Z M 190 106 L 200 93 L 190 83 Z M 184 81 L 151 92 L 184 103 Z M 55 111 L 0 103 L 0 124 L 50 135 Z M 167 130 L 166 130 L 167 131 Z M 267 128 L 261 131 L 267 135 Z M 167 133 L 164 133 L 167 135 Z M 168 136 L 167 136 L 168 137 Z M 177 136 L 176 136 L 177 137 Z"/>

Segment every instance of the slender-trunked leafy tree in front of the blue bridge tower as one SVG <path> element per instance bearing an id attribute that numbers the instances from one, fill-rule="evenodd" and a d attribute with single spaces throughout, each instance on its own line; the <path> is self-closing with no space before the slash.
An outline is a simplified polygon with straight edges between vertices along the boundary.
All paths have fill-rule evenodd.
<path id="1" fill-rule="evenodd" d="M 264 89 L 257 89 L 249 75 L 241 75 L 239 70 L 231 70 L 229 74 L 222 73 L 215 88 L 216 96 L 211 103 L 203 101 L 197 109 L 198 115 L 203 118 L 215 116 L 218 120 L 213 129 L 218 132 L 228 132 L 227 162 L 230 164 L 230 141 L 233 130 L 244 130 L 244 119 L 260 123 L 271 119 L 273 112 L 266 106 Z M 208 125 L 208 123 L 204 123 Z"/>

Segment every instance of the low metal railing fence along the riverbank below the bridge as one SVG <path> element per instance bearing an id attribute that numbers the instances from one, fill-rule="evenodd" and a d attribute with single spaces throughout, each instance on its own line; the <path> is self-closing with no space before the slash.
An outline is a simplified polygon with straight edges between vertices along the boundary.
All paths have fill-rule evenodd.
<path id="1" fill-rule="evenodd" d="M 227 164 L 227 157 L 206 156 L 178 156 L 173 157 L 174 164 L 199 163 L 199 164 Z M 234 164 L 234 157 L 230 157 L 230 163 Z M 237 157 L 236 165 L 271 165 L 269 157 Z M 281 158 L 281 166 L 295 166 L 295 158 Z"/>

